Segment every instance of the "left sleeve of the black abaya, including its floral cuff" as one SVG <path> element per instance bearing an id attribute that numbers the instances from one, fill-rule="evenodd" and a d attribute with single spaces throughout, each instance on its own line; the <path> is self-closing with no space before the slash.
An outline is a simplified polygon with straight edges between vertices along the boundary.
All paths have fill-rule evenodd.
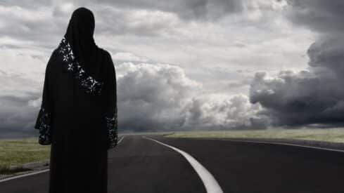
<path id="1" fill-rule="evenodd" d="M 39 109 L 36 119 L 35 129 L 39 130 L 39 144 L 51 144 L 51 112 L 53 112 L 53 100 L 51 93 L 51 62 L 53 55 L 51 55 L 45 69 L 44 86 L 42 93 L 42 104 Z"/>

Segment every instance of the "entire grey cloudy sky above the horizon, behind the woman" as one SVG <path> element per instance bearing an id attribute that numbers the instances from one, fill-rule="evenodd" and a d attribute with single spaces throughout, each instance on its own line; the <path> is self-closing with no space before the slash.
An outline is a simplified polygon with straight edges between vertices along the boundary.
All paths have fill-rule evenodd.
<path id="1" fill-rule="evenodd" d="M 120 131 L 342 126 L 340 0 L 0 1 L 0 133 L 32 135 L 46 62 L 94 12 Z"/>

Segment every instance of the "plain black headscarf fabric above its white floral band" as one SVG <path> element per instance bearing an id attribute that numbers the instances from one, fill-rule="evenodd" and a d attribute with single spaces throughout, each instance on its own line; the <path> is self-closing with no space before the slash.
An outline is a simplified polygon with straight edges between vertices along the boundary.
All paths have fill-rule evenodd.
<path id="1" fill-rule="evenodd" d="M 94 14 L 87 8 L 77 8 L 70 18 L 65 39 L 68 40 L 75 58 L 88 71 L 98 60 L 98 46 L 94 42 Z"/>

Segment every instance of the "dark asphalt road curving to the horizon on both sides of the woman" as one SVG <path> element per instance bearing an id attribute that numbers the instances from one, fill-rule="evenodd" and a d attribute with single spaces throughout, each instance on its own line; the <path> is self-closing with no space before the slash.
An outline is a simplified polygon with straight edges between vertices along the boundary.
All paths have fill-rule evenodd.
<path id="1" fill-rule="evenodd" d="M 344 192 L 344 152 L 147 137 L 126 135 L 109 150 L 108 192 Z M 46 193 L 48 180 L 49 171 L 0 182 L 0 192 Z"/>

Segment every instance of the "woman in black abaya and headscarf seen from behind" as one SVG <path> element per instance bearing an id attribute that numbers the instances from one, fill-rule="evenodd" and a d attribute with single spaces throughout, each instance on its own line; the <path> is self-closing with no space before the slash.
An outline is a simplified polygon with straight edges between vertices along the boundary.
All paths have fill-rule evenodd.
<path id="1" fill-rule="evenodd" d="M 108 149 L 117 145 L 115 67 L 94 42 L 94 15 L 72 13 L 51 54 L 36 125 L 51 144 L 49 192 L 107 192 Z"/>

